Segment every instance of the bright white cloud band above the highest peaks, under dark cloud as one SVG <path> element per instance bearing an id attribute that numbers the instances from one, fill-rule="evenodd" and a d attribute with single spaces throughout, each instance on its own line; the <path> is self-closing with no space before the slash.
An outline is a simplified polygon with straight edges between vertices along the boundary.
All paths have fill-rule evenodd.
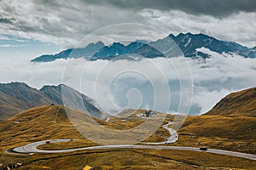
<path id="1" fill-rule="evenodd" d="M 248 47 L 256 45 L 256 23 L 252 22 L 256 18 L 256 13 L 240 12 L 222 19 L 209 15 L 186 14 L 177 10 L 162 12 L 144 9 L 139 14 L 143 15 L 148 25 L 156 28 L 161 26 L 166 32 L 204 33 L 220 40 L 239 42 Z"/>

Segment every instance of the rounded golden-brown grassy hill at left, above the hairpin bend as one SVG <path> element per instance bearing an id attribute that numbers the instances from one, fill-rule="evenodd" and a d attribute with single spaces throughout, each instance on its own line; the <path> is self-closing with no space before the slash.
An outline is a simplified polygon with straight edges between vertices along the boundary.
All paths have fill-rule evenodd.
<path id="1" fill-rule="evenodd" d="M 68 122 L 65 110 L 58 105 L 23 111 L 0 123 L 0 132 L 1 147 L 43 139 L 84 139 Z"/>

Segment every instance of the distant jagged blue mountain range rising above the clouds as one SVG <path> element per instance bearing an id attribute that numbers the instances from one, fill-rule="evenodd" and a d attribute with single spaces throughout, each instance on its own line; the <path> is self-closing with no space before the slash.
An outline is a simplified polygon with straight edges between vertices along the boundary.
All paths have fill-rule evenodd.
<path id="1" fill-rule="evenodd" d="M 170 41 L 171 39 L 172 41 Z M 209 54 L 197 51 L 197 48 L 208 48 L 218 54 L 239 54 L 245 58 L 256 58 L 256 46 L 247 48 L 239 43 L 218 40 L 205 34 L 180 33 L 177 36 L 170 34 L 155 42 L 136 41 L 126 46 L 120 42 L 113 42 L 110 46 L 106 46 L 101 41 L 96 43 L 91 42 L 85 48 L 69 48 L 61 51 L 59 54 L 44 54 L 32 59 L 32 62 L 50 62 L 55 59 L 67 58 L 85 58 L 91 60 L 117 59 L 117 57 L 128 54 L 143 56 L 144 58 L 175 57 L 180 55 L 191 58 L 209 57 Z"/>

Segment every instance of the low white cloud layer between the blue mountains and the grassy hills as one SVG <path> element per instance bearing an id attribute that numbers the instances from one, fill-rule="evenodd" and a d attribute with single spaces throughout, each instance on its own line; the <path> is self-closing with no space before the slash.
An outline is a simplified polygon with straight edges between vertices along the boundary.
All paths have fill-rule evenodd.
<path id="1" fill-rule="evenodd" d="M 200 50 L 206 52 L 206 49 Z M 253 79 L 256 76 L 256 59 L 214 54 L 210 51 L 207 53 L 212 54 L 212 57 L 206 60 L 173 58 L 171 62 L 174 66 L 171 67 L 166 64 L 170 60 L 164 58 L 93 62 L 85 59 L 69 59 L 68 62 L 57 59 L 55 62 L 41 64 L 3 63 L 0 65 L 0 81 L 26 82 L 34 88 L 65 82 L 96 99 L 96 103 L 109 112 L 138 107 L 156 107 L 158 111 L 165 111 L 168 105 L 168 112 L 173 113 L 178 112 L 179 106 L 190 105 L 189 99 L 180 103 L 180 81 L 187 81 L 189 84 L 189 79 L 192 78 L 193 98 L 189 114 L 196 115 L 209 111 L 226 94 L 254 87 L 256 84 Z M 191 77 L 182 72 L 182 66 L 187 64 Z M 183 90 L 183 95 L 188 98 L 191 91 L 186 89 L 189 86 Z"/>

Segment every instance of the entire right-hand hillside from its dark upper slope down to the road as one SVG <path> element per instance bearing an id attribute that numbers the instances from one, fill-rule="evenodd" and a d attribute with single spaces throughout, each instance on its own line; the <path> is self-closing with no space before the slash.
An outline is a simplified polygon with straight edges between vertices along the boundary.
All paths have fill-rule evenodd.
<path id="1" fill-rule="evenodd" d="M 177 144 L 206 145 L 256 153 L 256 88 L 232 93 L 211 111 L 189 116 L 179 129 Z"/>

